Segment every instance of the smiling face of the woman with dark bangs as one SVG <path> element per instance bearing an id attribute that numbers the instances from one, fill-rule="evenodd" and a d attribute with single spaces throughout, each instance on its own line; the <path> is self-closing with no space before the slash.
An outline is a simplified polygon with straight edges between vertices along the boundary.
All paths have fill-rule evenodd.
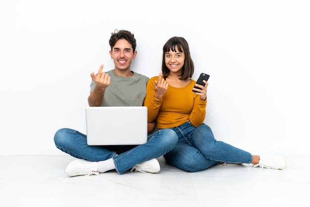
<path id="1" fill-rule="evenodd" d="M 165 64 L 170 72 L 182 74 L 185 54 L 183 52 L 179 52 L 176 46 L 175 50 L 176 52 L 170 50 L 169 52 L 165 53 Z"/>

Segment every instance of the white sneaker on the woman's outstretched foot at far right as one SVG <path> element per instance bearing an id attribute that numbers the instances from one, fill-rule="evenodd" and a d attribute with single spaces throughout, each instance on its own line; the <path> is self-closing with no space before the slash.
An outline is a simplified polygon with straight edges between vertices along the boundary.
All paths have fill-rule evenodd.
<path id="1" fill-rule="evenodd" d="M 286 167 L 286 159 L 282 155 L 261 155 L 258 164 L 254 167 L 268 169 L 284 169 Z"/>

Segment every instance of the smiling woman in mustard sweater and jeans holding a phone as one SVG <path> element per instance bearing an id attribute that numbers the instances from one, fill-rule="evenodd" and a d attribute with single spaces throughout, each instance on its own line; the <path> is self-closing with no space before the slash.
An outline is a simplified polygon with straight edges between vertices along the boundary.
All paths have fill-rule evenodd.
<path id="1" fill-rule="evenodd" d="M 204 123 L 208 83 L 204 81 L 206 85 L 202 86 L 191 79 L 194 63 L 184 38 L 172 37 L 165 43 L 161 71 L 148 82 L 144 104 L 148 107 L 149 122 L 156 120 L 157 128 L 171 128 L 178 135 L 177 145 L 164 155 L 169 164 L 189 172 L 221 162 L 252 163 L 273 169 L 286 167 L 282 155 L 252 155 L 215 140 Z"/>

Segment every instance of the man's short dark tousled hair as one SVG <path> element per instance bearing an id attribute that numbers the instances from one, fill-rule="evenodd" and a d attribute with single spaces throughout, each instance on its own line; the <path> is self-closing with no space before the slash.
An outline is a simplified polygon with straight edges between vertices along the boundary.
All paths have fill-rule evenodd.
<path id="1" fill-rule="evenodd" d="M 135 36 L 130 31 L 127 30 L 114 30 L 114 32 L 111 33 L 111 37 L 109 40 L 111 51 L 113 50 L 113 47 L 115 46 L 116 42 L 121 39 L 127 40 L 131 44 L 133 52 L 136 51 L 137 41 L 135 39 Z"/>

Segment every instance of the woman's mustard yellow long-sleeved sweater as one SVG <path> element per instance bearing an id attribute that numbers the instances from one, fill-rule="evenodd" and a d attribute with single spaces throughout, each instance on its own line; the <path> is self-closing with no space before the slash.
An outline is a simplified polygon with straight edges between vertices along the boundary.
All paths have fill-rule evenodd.
<path id="1" fill-rule="evenodd" d="M 148 121 L 156 120 L 159 129 L 180 126 L 187 121 L 197 127 L 201 125 L 206 116 L 207 100 L 202 101 L 193 91 L 196 81 L 183 88 L 168 86 L 168 90 L 162 99 L 158 100 L 155 95 L 155 80 L 151 78 L 147 84 L 147 95 L 144 105 L 148 107 Z"/>

